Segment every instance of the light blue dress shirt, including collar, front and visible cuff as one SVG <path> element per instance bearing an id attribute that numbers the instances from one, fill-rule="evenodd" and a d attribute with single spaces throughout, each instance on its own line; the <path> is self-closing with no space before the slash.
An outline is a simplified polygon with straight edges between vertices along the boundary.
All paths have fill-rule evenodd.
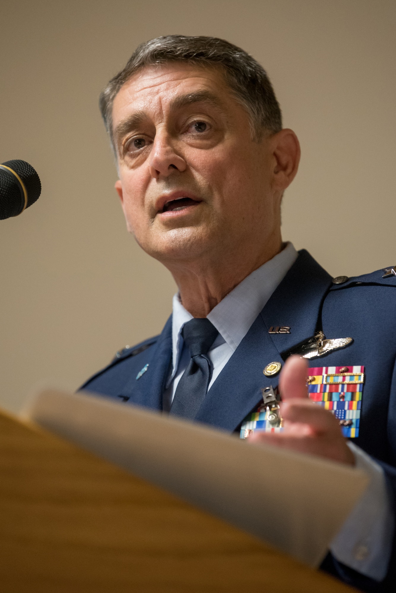
<path id="1" fill-rule="evenodd" d="M 286 244 L 280 253 L 242 280 L 207 315 L 219 331 L 208 352 L 213 365 L 209 389 L 297 257 L 293 245 Z M 165 386 L 165 411 L 170 410 L 178 381 L 190 361 L 181 330 L 192 318 L 181 304 L 179 295 L 174 295 L 173 364 Z M 387 573 L 394 532 L 394 517 L 384 470 L 362 449 L 352 442 L 348 444 L 355 455 L 356 466 L 369 475 L 370 483 L 331 543 L 330 550 L 340 562 L 381 581 Z"/>

